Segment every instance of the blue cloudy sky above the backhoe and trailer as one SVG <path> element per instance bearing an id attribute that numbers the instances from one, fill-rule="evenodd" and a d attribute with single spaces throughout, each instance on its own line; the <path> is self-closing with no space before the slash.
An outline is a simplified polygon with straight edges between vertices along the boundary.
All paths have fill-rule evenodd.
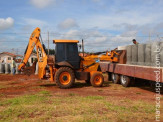
<path id="1" fill-rule="evenodd" d="M 23 54 L 39 27 L 44 44 L 84 39 L 85 50 L 162 41 L 163 0 L 0 0 L 0 52 Z"/>

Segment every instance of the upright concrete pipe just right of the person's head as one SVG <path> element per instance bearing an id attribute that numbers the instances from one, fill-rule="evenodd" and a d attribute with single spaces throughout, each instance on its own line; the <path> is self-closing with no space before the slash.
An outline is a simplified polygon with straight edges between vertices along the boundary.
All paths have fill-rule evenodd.
<path id="1" fill-rule="evenodd" d="M 145 62 L 145 44 L 138 45 L 138 65 L 144 65 Z"/>

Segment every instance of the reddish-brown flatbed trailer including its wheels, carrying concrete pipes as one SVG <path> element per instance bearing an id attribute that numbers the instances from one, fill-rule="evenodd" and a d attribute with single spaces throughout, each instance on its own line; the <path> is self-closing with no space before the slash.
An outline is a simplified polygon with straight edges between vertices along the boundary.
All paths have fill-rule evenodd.
<path id="1" fill-rule="evenodd" d="M 101 71 L 108 73 L 114 83 L 128 87 L 135 78 L 163 83 L 163 67 L 100 62 Z"/>

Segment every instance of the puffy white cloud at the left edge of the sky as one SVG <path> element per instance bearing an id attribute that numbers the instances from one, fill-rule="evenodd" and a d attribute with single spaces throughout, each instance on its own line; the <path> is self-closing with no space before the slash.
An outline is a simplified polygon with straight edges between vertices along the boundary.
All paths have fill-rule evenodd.
<path id="1" fill-rule="evenodd" d="M 8 17 L 6 19 L 0 18 L 0 30 L 5 30 L 14 25 L 14 19 L 11 17 Z"/>

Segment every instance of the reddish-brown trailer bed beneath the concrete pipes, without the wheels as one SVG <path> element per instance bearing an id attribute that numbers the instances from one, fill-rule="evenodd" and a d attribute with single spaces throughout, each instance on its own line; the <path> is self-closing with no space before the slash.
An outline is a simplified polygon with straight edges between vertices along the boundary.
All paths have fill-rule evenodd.
<path id="1" fill-rule="evenodd" d="M 120 75 L 156 81 L 160 76 L 160 82 L 163 82 L 163 67 L 157 68 L 152 66 L 118 64 L 110 62 L 100 62 L 102 72 L 116 73 Z M 159 74 L 155 72 L 159 72 Z"/>

